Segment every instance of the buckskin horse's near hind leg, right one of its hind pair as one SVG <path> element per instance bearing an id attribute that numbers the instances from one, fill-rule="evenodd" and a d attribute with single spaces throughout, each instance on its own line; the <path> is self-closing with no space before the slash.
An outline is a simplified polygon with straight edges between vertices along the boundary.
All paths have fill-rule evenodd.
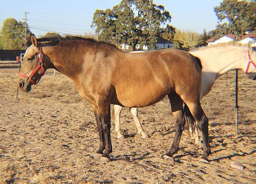
<path id="1" fill-rule="evenodd" d="M 191 114 L 194 116 L 196 125 L 202 131 L 203 150 L 204 150 L 202 158 L 204 160 L 208 160 L 207 157 L 211 153 L 210 146 L 209 146 L 208 118 L 204 114 L 204 111 L 201 108 L 200 102 L 185 101 L 185 103 L 189 107 Z"/>

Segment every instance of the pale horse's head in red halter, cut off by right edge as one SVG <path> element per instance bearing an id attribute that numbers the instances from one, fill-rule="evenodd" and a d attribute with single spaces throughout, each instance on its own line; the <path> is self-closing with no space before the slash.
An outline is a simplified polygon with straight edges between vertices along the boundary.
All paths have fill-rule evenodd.
<path id="1" fill-rule="evenodd" d="M 247 47 L 247 64 L 242 69 L 251 79 L 256 80 L 256 49 L 250 43 Z"/>

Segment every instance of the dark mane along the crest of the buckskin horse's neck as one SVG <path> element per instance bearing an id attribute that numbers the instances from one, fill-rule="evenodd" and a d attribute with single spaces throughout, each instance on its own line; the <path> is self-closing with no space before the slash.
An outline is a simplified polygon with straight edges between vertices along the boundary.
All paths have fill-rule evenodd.
<path id="1" fill-rule="evenodd" d="M 96 41 L 93 38 L 85 38 L 85 37 L 79 37 L 79 36 L 55 36 L 55 37 L 40 37 L 37 39 L 38 42 L 45 42 L 45 41 L 66 41 L 66 40 L 85 40 L 85 41 L 90 41 L 93 43 L 105 43 L 111 46 L 116 47 L 112 43 L 107 43 L 103 41 Z M 26 46 L 29 47 L 32 45 L 31 39 L 29 37 L 28 42 L 26 43 Z"/>

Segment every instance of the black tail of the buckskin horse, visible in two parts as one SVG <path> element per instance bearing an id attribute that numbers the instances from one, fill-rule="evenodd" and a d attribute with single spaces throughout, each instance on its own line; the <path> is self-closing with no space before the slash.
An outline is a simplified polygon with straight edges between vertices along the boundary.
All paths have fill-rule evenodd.
<path id="1" fill-rule="evenodd" d="M 195 56 L 194 56 L 195 57 Z M 198 57 L 195 57 L 200 69 L 202 70 L 203 66 L 201 63 L 201 60 Z M 191 114 L 189 107 L 184 103 L 183 112 L 182 112 L 182 118 L 184 121 L 187 122 L 188 129 L 191 128 L 192 132 L 195 132 L 195 118 Z M 190 132 L 189 132 L 190 133 Z"/>

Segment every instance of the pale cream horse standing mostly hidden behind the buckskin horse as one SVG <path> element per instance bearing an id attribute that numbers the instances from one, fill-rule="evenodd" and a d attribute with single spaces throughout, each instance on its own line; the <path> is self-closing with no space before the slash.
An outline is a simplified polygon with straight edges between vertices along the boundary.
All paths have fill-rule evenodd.
<path id="1" fill-rule="evenodd" d="M 207 95 L 215 80 L 224 73 L 232 69 L 241 69 L 253 80 L 256 79 L 256 51 L 250 46 L 233 45 L 233 44 L 218 44 L 216 46 L 209 46 L 200 48 L 197 51 L 189 52 L 195 57 L 199 58 L 202 63 L 202 86 L 201 86 L 201 98 Z M 117 138 L 124 138 L 120 129 L 120 113 L 122 107 L 114 105 L 115 113 L 115 131 L 118 135 Z M 144 132 L 143 127 L 140 124 L 138 108 L 130 108 L 133 115 L 135 124 L 138 129 L 138 134 L 141 134 L 143 138 L 148 138 L 148 135 Z M 198 128 L 195 126 L 195 130 L 189 126 L 189 132 L 192 137 L 195 138 L 195 144 L 199 144 Z"/>

